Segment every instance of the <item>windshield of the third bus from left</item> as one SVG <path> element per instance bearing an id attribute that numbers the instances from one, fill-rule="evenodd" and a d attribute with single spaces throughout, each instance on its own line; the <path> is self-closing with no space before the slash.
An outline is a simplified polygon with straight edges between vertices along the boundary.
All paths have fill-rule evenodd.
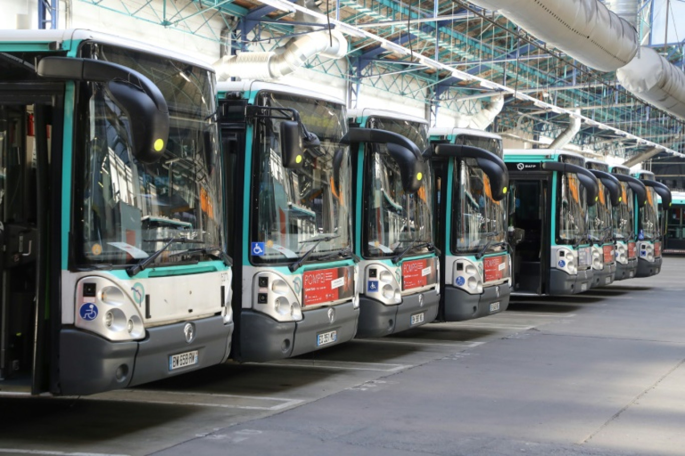
<path id="1" fill-rule="evenodd" d="M 374 118 L 370 124 L 377 129 L 399 133 L 412 140 L 419 150 L 427 147 L 427 125 L 406 120 Z M 366 146 L 364 171 L 364 225 L 362 245 L 366 258 L 394 256 L 406 248 L 415 254 L 428 252 L 425 243 L 433 242 L 433 221 L 430 204 L 433 181 L 425 170 L 421 188 L 406 193 L 402 187 L 399 166 L 390 157 L 385 145 Z M 415 247 L 410 245 L 415 243 Z"/>

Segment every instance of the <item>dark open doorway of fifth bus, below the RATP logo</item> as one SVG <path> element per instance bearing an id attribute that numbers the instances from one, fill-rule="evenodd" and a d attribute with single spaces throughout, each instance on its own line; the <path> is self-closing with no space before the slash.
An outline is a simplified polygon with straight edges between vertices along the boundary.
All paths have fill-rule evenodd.
<path id="1" fill-rule="evenodd" d="M 514 293 L 545 293 L 549 267 L 549 188 L 551 174 L 510 176 L 510 231 L 523 237 L 512 245 Z"/>

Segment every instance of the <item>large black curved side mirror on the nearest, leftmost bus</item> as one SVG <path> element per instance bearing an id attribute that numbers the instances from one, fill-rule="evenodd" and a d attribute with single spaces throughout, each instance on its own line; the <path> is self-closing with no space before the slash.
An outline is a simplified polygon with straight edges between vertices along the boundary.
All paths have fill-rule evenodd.
<path id="1" fill-rule="evenodd" d="M 43 57 L 40 77 L 99 82 L 129 119 L 133 155 L 142 163 L 162 158 L 169 139 L 169 107 L 160 89 L 147 77 L 123 65 L 94 59 Z"/>

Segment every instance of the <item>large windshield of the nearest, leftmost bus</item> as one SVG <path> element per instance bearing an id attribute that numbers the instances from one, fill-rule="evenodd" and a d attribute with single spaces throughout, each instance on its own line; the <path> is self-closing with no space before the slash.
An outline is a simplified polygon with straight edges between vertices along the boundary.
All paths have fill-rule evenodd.
<path id="1" fill-rule="evenodd" d="M 211 73 L 161 55 L 116 46 L 86 44 L 84 57 L 133 68 L 160 88 L 169 106 L 169 139 L 156 163 L 132 154 L 132 129 L 126 113 L 101 83 L 79 90 L 86 111 L 79 127 L 75 172 L 75 219 L 82 263 L 125 265 L 147 258 L 169 239 L 174 243 L 155 264 L 184 260 L 175 253 L 190 247 L 223 249 L 221 161 L 216 148 Z M 210 259 L 198 252 L 193 259 Z"/>

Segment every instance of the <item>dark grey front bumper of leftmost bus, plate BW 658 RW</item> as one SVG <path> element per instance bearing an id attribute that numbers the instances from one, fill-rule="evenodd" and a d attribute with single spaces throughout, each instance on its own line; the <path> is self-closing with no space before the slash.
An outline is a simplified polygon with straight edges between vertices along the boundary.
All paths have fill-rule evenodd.
<path id="1" fill-rule="evenodd" d="M 192 339 L 186 342 L 186 324 Z M 73 327 L 60 331 L 60 394 L 95 394 L 219 364 L 230 351 L 233 323 L 208 317 L 147 329 L 143 340 L 112 342 Z M 197 362 L 170 368 L 171 356 L 197 351 Z"/>

